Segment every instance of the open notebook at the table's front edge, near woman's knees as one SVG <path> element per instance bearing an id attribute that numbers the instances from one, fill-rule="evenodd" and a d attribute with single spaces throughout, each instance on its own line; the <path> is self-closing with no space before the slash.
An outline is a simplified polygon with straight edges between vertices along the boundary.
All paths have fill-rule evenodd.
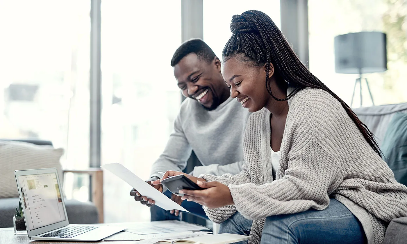
<path id="1" fill-rule="evenodd" d="M 229 244 L 234 242 L 240 242 L 252 239 L 250 236 L 247 235 L 236 235 L 236 234 L 229 234 L 229 233 L 222 233 L 217 235 L 205 234 L 199 235 L 191 238 L 185 239 L 172 239 L 172 240 L 164 240 L 159 242 L 160 244 L 168 244 L 168 243 L 175 243 L 175 244 L 190 244 L 195 242 L 200 242 L 200 244 Z"/>

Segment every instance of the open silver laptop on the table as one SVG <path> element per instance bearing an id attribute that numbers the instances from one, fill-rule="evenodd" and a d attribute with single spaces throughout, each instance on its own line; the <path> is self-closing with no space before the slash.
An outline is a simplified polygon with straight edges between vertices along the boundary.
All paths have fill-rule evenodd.
<path id="1" fill-rule="evenodd" d="M 56 168 L 15 171 L 30 240 L 99 241 L 123 227 L 70 225 Z"/>

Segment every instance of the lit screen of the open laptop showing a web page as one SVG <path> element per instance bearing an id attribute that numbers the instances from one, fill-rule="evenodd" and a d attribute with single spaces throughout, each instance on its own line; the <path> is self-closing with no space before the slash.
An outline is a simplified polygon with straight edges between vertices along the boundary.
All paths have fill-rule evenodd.
<path id="1" fill-rule="evenodd" d="M 29 230 L 66 220 L 55 173 L 20 175 L 21 203 Z"/>

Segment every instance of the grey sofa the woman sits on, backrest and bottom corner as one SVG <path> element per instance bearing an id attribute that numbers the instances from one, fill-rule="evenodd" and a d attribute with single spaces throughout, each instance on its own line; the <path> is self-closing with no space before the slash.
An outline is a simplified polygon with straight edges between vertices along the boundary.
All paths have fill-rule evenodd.
<path id="1" fill-rule="evenodd" d="M 377 136 L 377 143 L 379 147 L 381 147 L 387 126 L 393 115 L 397 112 L 407 113 L 407 103 L 355 108 L 353 111 L 357 114 L 359 119 L 368 126 L 372 133 Z M 395 218 L 390 222 L 383 243 L 407 243 L 407 217 Z"/>

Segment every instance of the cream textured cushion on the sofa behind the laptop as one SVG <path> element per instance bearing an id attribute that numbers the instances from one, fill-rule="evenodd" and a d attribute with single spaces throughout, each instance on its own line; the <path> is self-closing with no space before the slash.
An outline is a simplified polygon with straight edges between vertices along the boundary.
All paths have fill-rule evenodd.
<path id="1" fill-rule="evenodd" d="M 39 146 L 32 143 L 0 140 L 0 198 L 18 197 L 14 171 L 35 168 L 57 168 L 63 182 L 62 166 L 59 158 L 62 148 Z"/>

